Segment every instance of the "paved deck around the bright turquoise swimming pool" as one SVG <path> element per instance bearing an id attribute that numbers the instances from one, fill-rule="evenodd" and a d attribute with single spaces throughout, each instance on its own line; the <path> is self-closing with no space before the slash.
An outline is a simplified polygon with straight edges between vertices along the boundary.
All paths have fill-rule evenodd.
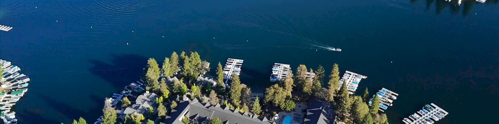
<path id="1" fill-rule="evenodd" d="M 293 111 L 286 112 L 282 111 L 279 113 L 279 118 L 275 121 L 276 124 L 282 124 L 284 122 L 284 118 L 286 116 L 292 116 L 293 119 L 290 124 L 302 124 L 303 123 L 303 117 L 305 116 L 306 113 L 303 113 L 303 110 L 307 109 L 307 105 L 304 102 L 299 102 L 296 103 L 296 108 L 294 108 Z"/>

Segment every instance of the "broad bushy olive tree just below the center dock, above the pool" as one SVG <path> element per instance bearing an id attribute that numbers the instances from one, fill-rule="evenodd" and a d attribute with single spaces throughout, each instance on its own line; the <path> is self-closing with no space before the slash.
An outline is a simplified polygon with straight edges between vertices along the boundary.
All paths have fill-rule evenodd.
<path id="1" fill-rule="evenodd" d="M 269 88 L 265 89 L 265 98 L 263 103 L 272 103 L 275 107 L 280 107 L 284 104 L 286 100 L 286 91 L 279 87 L 279 85 L 274 84 Z"/>

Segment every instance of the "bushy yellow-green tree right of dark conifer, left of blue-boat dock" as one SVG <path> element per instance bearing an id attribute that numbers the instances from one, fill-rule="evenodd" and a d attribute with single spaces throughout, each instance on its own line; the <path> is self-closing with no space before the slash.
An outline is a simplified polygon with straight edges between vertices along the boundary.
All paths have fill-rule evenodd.
<path id="1" fill-rule="evenodd" d="M 352 104 L 351 117 L 355 124 L 361 124 L 365 116 L 369 114 L 369 107 L 360 96 L 354 96 Z"/>

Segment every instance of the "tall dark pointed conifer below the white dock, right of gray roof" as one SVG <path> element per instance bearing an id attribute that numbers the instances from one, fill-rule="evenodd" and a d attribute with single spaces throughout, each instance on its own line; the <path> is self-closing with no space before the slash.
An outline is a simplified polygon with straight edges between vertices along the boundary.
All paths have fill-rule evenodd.
<path id="1" fill-rule="evenodd" d="M 339 94 L 338 94 L 338 101 L 336 101 L 336 106 L 338 107 L 337 110 L 337 115 L 340 117 L 340 121 L 344 121 L 346 120 L 346 117 L 344 117 L 343 114 L 347 114 L 348 115 L 348 112 L 350 110 L 350 107 L 352 105 L 352 99 L 349 97 L 349 93 L 348 93 L 348 90 L 347 90 L 347 86 L 346 85 L 342 85 L 341 86 L 341 89 L 339 91 Z"/>

